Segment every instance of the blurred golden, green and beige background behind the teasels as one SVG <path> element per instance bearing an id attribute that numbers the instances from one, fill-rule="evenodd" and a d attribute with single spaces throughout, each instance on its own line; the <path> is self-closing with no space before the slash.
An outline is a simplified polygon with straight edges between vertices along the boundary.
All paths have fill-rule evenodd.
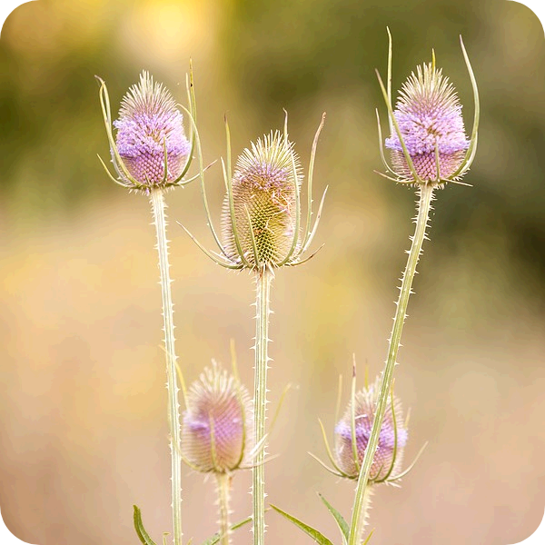
<path id="1" fill-rule="evenodd" d="M 338 530 L 354 483 L 322 470 L 339 374 L 381 372 L 413 226 L 414 190 L 381 170 L 374 69 L 393 86 L 431 59 L 473 105 L 459 35 L 481 92 L 480 143 L 464 181 L 438 192 L 403 333 L 396 392 L 411 408 L 401 489 L 374 497 L 372 543 L 512 544 L 545 503 L 545 48 L 543 27 L 511 0 L 33 0 L 0 34 L 0 513 L 19 540 L 136 543 L 133 504 L 157 542 L 171 529 L 160 288 L 149 203 L 105 175 L 94 74 L 117 104 L 143 69 L 184 102 L 193 58 L 204 159 L 280 128 L 303 163 L 323 111 L 315 198 L 329 185 L 316 247 L 272 290 L 268 500 Z M 221 169 L 207 173 L 214 217 Z M 177 351 L 187 381 L 237 345 L 253 388 L 252 278 L 200 253 L 179 221 L 213 240 L 199 187 L 167 195 Z M 348 400 L 345 388 L 342 404 Z M 233 520 L 251 511 L 251 476 L 233 481 Z M 216 529 L 213 480 L 184 469 L 184 534 Z M 271 543 L 310 539 L 274 512 Z M 249 527 L 234 544 L 251 542 Z"/>

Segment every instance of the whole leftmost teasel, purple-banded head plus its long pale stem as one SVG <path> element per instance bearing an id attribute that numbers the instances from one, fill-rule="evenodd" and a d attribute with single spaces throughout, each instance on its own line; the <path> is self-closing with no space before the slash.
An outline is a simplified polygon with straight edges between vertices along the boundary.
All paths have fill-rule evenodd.
<path id="1" fill-rule="evenodd" d="M 189 139 L 183 128 L 183 114 L 173 95 L 146 71 L 140 75 L 121 102 L 119 118 L 112 122 L 110 98 L 104 80 L 99 97 L 104 126 L 110 147 L 114 173 L 104 170 L 117 183 L 136 193 L 144 193 L 152 206 L 156 248 L 158 253 L 160 283 L 163 298 L 164 352 L 166 357 L 168 424 L 171 448 L 173 543 L 182 545 L 182 456 L 180 452 L 180 404 L 174 350 L 173 300 L 166 236 L 164 193 L 174 187 L 183 187 L 196 178 L 187 177 L 193 159 L 195 144 L 196 105 L 193 89 L 193 69 L 190 63 L 186 75 L 186 92 L 189 109 L 182 109 L 191 122 Z M 115 129 L 115 134 L 114 134 Z M 198 174 L 197 174 L 198 176 Z M 182 387 L 184 389 L 183 383 Z M 142 525 L 140 510 L 134 506 L 134 525 L 143 543 L 153 543 Z"/>

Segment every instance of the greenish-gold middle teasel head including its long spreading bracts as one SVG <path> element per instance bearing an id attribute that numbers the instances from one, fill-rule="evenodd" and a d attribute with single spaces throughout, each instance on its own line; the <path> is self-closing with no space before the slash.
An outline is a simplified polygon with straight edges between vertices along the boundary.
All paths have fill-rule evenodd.
<path id="1" fill-rule="evenodd" d="M 314 136 L 308 172 L 306 221 L 302 221 L 302 166 L 294 145 L 288 137 L 287 114 L 284 130 L 263 135 L 243 151 L 231 166 L 231 138 L 227 134 L 227 159 L 223 161 L 226 195 L 223 200 L 222 233 L 216 233 L 210 217 L 204 183 L 202 193 L 208 214 L 208 224 L 219 252 L 211 253 L 193 238 L 195 243 L 215 263 L 228 269 L 254 272 L 273 271 L 284 265 L 298 265 L 312 243 L 320 217 L 323 199 L 314 223 L 312 216 L 312 173 L 318 137 L 322 123 Z M 202 178 L 203 179 L 203 178 Z M 327 190 L 326 190 L 327 191 Z"/>

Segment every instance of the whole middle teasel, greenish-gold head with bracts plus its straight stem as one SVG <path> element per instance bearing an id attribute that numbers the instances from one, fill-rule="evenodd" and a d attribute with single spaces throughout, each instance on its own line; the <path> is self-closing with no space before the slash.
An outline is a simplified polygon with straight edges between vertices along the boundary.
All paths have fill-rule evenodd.
<path id="1" fill-rule="evenodd" d="M 269 316 L 271 286 L 275 272 L 282 267 L 306 263 L 308 253 L 322 215 L 322 200 L 312 222 L 312 177 L 316 148 L 325 114 L 312 142 L 310 156 L 306 221 L 302 225 L 302 167 L 288 135 L 285 114 L 283 132 L 273 131 L 243 151 L 232 170 L 231 135 L 225 119 L 227 154 L 222 159 L 225 197 L 223 201 L 222 235 L 213 227 L 206 197 L 203 169 L 201 188 L 203 203 L 217 251 L 207 250 L 191 233 L 193 241 L 214 263 L 225 269 L 248 271 L 256 284 L 255 366 L 253 388 L 253 543 L 263 545 L 265 535 L 265 432 L 267 406 L 267 371 L 269 368 Z M 197 145 L 199 136 L 196 133 Z M 185 228 L 184 228 L 185 229 Z"/>

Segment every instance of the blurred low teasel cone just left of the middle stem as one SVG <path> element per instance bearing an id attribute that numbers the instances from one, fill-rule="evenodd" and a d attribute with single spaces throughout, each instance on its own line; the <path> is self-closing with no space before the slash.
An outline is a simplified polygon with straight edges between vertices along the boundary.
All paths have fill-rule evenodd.
<path id="1" fill-rule="evenodd" d="M 194 381 L 183 413 L 182 452 L 203 472 L 225 473 L 247 461 L 253 447 L 252 401 L 233 375 L 213 362 Z"/>

